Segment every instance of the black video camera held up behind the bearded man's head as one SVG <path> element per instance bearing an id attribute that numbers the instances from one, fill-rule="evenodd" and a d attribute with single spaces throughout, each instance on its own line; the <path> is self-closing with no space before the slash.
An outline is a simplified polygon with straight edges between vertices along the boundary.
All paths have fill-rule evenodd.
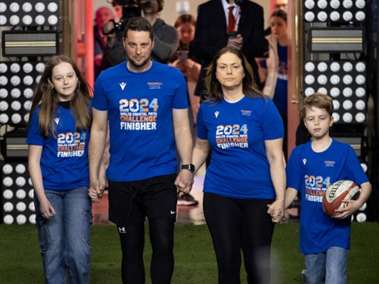
<path id="1" fill-rule="evenodd" d="M 124 31 L 125 26 L 130 18 L 141 16 L 141 9 L 134 0 L 114 0 L 116 5 L 122 6 L 122 18 L 118 23 L 110 20 L 113 23 L 113 28 L 108 30 L 107 25 L 103 26 L 102 33 L 104 35 L 113 34 L 117 31 Z"/>

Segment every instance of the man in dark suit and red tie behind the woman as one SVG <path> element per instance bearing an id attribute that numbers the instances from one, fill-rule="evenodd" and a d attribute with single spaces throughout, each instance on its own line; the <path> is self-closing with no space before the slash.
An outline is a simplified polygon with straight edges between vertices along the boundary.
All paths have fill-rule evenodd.
<path id="1" fill-rule="evenodd" d="M 234 24 L 230 27 L 231 6 Z M 262 57 L 268 50 L 262 6 L 248 0 L 210 0 L 198 6 L 195 39 L 191 47 L 196 58 L 202 61 L 196 95 L 201 96 L 205 90 L 205 68 L 215 53 L 227 45 L 242 50 L 252 66 L 255 82 L 261 88 L 255 58 Z"/>

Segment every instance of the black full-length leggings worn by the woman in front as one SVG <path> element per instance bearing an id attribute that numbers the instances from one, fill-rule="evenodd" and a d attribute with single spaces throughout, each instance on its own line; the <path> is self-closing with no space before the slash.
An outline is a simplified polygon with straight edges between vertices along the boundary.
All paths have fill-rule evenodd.
<path id="1" fill-rule="evenodd" d="M 204 216 L 215 249 L 219 284 L 240 284 L 241 249 L 247 283 L 269 283 L 274 223 L 267 204 L 273 201 L 204 193 Z"/>

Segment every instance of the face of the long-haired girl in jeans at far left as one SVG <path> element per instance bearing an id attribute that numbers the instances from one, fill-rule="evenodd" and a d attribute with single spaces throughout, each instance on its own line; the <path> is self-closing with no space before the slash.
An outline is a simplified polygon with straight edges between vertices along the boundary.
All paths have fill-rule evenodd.
<path id="1" fill-rule="evenodd" d="M 75 89 L 78 86 L 78 77 L 70 63 L 61 62 L 53 67 L 48 83 L 57 92 L 60 102 L 68 102 L 73 99 Z"/>

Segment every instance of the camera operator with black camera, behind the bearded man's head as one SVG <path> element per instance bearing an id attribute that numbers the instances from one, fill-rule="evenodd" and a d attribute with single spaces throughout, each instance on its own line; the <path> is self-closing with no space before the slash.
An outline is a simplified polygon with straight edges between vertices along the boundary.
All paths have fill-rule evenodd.
<path id="1" fill-rule="evenodd" d="M 119 23 L 110 21 L 103 28 L 103 32 L 108 34 L 108 50 L 104 67 L 118 65 L 126 60 L 122 37 L 127 21 L 133 16 L 143 16 L 149 21 L 154 32 L 154 49 L 151 59 L 167 64 L 178 48 L 179 36 L 176 28 L 159 18 L 159 12 L 164 8 L 164 0 L 116 0 L 116 2 L 124 5 L 122 20 Z"/>

